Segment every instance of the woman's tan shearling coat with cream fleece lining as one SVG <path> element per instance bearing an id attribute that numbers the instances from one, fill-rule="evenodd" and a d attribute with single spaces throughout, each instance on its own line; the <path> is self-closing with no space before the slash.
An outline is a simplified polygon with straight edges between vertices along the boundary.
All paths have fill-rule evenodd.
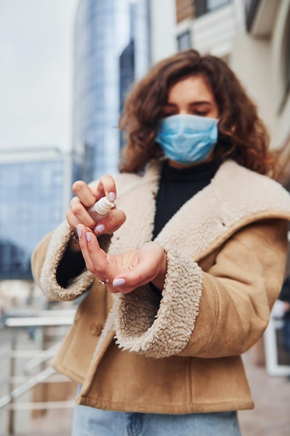
<path id="1" fill-rule="evenodd" d="M 117 254 L 150 242 L 159 169 L 115 177 L 127 221 L 111 243 Z M 228 161 L 156 238 L 168 258 L 162 298 L 143 286 L 111 294 L 83 272 L 56 281 L 70 240 L 64 222 L 32 258 L 49 299 L 88 290 L 52 362 L 83 384 L 76 402 L 126 412 L 184 414 L 253 407 L 241 354 L 268 324 L 287 258 L 290 196 L 277 182 Z"/>

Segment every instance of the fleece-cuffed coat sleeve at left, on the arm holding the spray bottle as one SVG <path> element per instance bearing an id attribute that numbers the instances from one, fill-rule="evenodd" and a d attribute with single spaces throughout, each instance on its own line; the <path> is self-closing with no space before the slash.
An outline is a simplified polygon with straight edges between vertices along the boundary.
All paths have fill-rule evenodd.
<path id="1" fill-rule="evenodd" d="M 33 279 L 42 292 L 50 300 L 72 300 L 90 288 L 95 280 L 88 270 L 74 277 L 66 288 L 58 283 L 58 266 L 72 237 L 72 229 L 66 221 L 42 239 L 31 256 Z M 107 250 L 111 235 L 102 235 L 99 238 L 100 246 Z M 73 276 L 73 274 L 72 274 Z"/>

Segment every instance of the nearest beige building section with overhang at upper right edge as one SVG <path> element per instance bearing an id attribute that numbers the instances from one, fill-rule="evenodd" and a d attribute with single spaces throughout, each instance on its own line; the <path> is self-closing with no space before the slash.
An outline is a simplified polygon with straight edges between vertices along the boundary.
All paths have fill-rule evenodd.
<path id="1" fill-rule="evenodd" d="M 232 67 L 257 103 L 280 153 L 277 179 L 290 192 L 290 0 L 245 6 L 247 32 L 235 39 Z"/>

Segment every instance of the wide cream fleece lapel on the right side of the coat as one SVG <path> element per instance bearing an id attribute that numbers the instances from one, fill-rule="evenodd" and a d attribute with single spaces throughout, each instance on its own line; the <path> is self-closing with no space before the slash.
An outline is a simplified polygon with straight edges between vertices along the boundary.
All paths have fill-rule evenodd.
<path id="1" fill-rule="evenodd" d="M 227 161 L 168 221 L 156 242 L 172 244 L 198 261 L 250 222 L 289 219 L 289 213 L 290 196 L 279 183 Z"/>

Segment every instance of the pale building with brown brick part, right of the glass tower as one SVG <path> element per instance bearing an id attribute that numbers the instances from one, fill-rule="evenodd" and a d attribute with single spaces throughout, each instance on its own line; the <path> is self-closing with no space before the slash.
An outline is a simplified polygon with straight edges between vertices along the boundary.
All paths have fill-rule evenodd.
<path id="1" fill-rule="evenodd" d="M 170 54 L 175 38 L 176 51 L 194 48 L 220 56 L 236 72 L 268 127 L 271 148 L 279 153 L 276 177 L 290 191 L 290 0 L 156 3 L 160 10 L 169 4 L 174 15 L 175 24 L 165 26 L 163 35 Z M 155 20 L 161 26 L 162 18 Z M 163 51 L 159 47 L 154 61 Z"/>

